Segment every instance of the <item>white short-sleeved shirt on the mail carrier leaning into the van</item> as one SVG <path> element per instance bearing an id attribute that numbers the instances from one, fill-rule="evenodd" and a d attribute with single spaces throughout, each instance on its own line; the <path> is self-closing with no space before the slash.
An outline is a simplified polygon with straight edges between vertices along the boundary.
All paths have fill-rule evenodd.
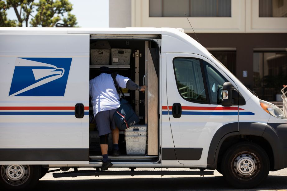
<path id="1" fill-rule="evenodd" d="M 121 88 L 126 88 L 129 78 L 121 75 L 115 77 Z M 114 80 L 111 74 L 101 73 L 96 78 L 90 80 L 90 96 L 94 116 L 100 111 L 107 111 L 120 107 L 120 96 L 115 89 Z"/>

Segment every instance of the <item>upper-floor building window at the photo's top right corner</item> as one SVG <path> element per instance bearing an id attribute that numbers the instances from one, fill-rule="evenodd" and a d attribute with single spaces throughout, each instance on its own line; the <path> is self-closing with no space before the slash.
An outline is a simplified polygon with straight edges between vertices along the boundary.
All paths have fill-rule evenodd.
<path id="1" fill-rule="evenodd" d="M 287 0 L 259 0 L 259 17 L 287 17 Z"/>

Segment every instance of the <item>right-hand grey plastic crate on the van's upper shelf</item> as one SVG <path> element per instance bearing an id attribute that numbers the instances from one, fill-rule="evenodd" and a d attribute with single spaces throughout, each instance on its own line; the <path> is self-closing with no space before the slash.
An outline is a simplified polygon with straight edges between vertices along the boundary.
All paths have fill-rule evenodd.
<path id="1" fill-rule="evenodd" d="M 129 65 L 131 49 L 111 49 L 111 62 L 112 65 Z"/>

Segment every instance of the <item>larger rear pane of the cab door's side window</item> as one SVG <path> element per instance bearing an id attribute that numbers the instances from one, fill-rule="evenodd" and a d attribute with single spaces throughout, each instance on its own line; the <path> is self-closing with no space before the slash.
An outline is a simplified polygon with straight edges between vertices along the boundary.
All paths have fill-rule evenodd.
<path id="1" fill-rule="evenodd" d="M 200 60 L 175 58 L 173 67 L 181 97 L 190 102 L 207 103 Z"/>

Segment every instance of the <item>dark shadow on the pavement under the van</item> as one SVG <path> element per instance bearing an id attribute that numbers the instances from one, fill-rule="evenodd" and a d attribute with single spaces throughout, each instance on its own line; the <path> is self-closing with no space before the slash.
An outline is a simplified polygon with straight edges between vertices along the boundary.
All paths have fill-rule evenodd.
<path id="1" fill-rule="evenodd" d="M 89 180 L 41 180 L 38 189 L 73 190 L 238 190 L 229 186 L 222 176 L 192 178 L 125 178 L 125 179 L 89 179 Z M 256 189 L 287 189 L 287 176 L 268 176 Z"/>

